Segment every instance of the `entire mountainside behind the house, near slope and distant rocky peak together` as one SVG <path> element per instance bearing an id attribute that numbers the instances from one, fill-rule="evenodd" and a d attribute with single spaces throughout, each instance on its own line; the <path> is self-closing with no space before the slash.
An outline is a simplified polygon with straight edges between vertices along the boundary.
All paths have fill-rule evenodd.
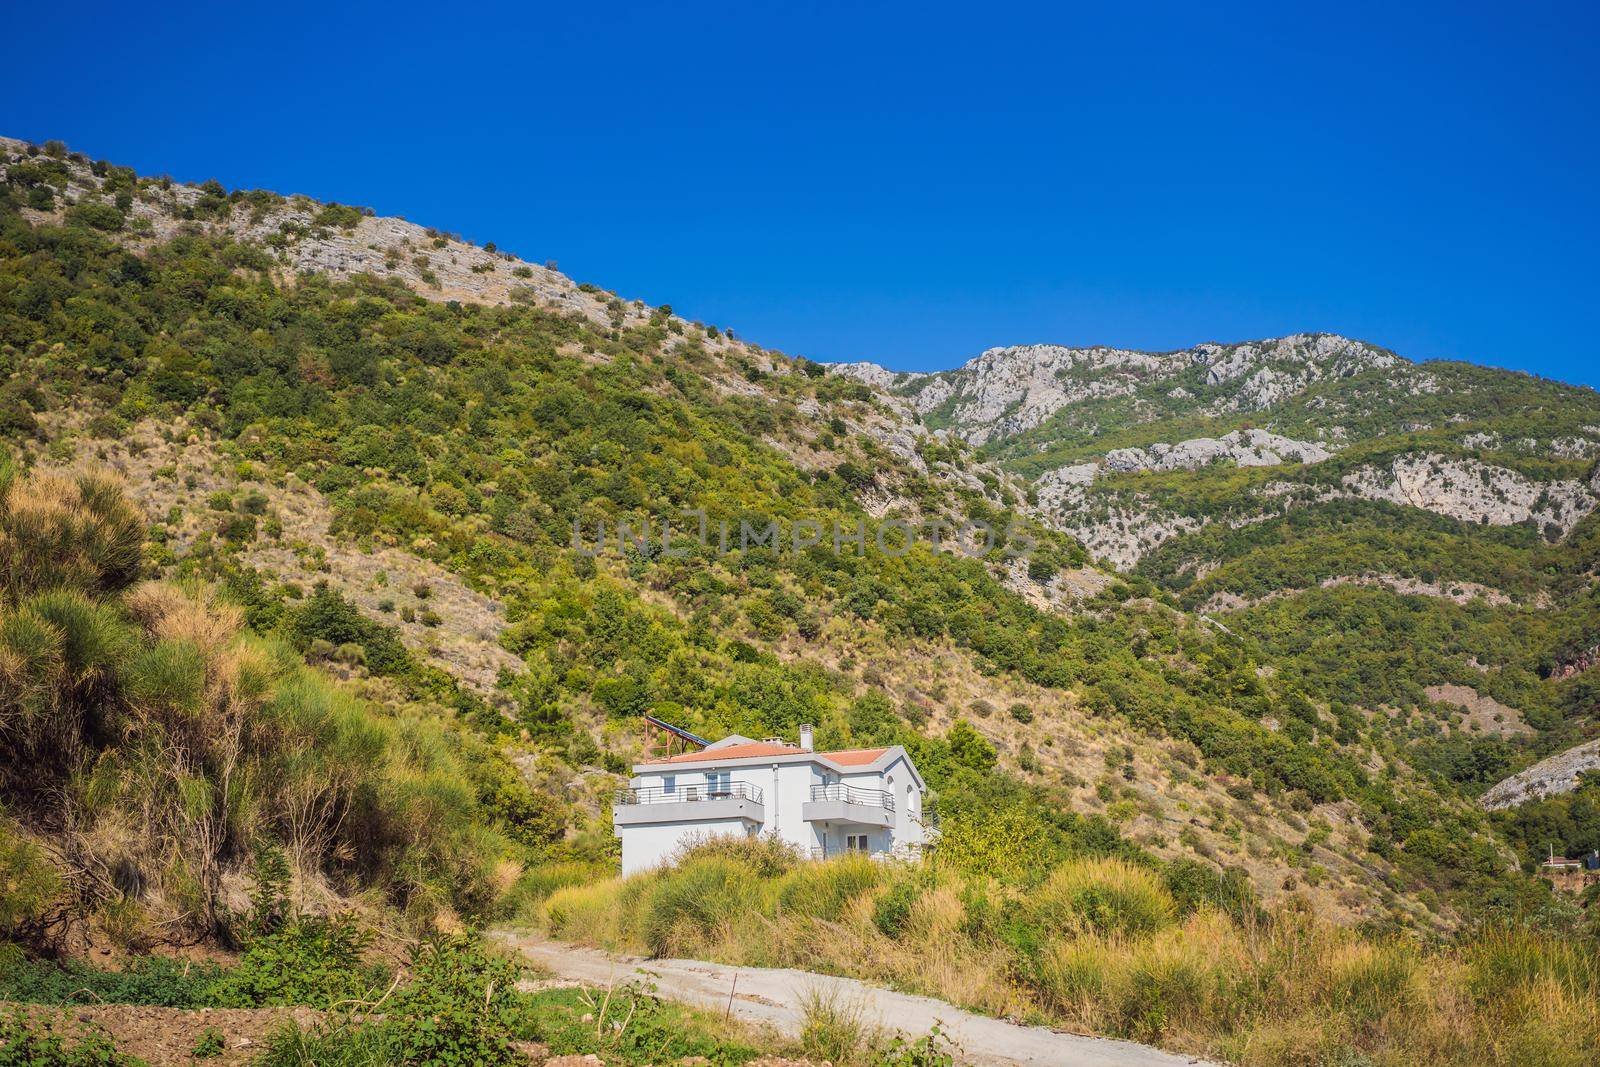
<path id="1" fill-rule="evenodd" d="M 640 712 L 814 723 L 910 745 L 984 854 L 1450 929 L 1526 885 L 1477 793 L 1594 729 L 1589 390 L 1331 336 L 830 371 L 347 205 L 0 179 L 16 462 L 117 472 L 147 576 L 488 742 L 563 856 L 610 862 Z M 998 536 L 878 550 L 933 523 Z"/>

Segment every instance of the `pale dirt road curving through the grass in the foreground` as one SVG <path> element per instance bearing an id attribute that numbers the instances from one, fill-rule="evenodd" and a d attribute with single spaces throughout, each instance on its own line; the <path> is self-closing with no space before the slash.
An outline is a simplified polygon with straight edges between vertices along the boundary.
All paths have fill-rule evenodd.
<path id="1" fill-rule="evenodd" d="M 922 1037 L 933 1024 L 962 1048 L 962 1062 L 978 1067 L 1179 1067 L 1205 1061 L 1176 1056 L 1131 1041 L 1061 1033 L 1048 1027 L 1024 1027 L 1003 1019 L 962 1011 L 942 1000 L 896 993 L 850 977 L 808 971 L 734 968 L 699 960 L 640 960 L 616 957 L 522 933 L 499 934 L 531 961 L 560 977 L 605 985 L 630 977 L 656 984 L 656 992 L 701 1008 L 723 1011 L 730 993 L 733 1014 L 746 1022 L 800 1033 L 800 1003 L 806 990 L 858 1001 L 867 1019 L 886 1030 Z M 738 979 L 738 985 L 734 985 Z"/>

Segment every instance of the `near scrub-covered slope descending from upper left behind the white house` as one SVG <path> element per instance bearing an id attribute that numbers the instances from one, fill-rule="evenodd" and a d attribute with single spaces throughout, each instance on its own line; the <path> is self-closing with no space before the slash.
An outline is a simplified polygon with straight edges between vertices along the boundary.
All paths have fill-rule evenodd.
<path id="1" fill-rule="evenodd" d="M 155 566 L 219 582 L 253 627 L 373 691 L 451 709 L 571 801 L 571 854 L 605 857 L 603 797 L 656 710 L 701 733 L 904 741 L 947 827 L 997 854 L 1200 857 L 1374 923 L 1450 925 L 1520 885 L 1376 702 L 1267 630 L 1085 566 L 1003 442 L 986 448 L 1014 470 L 914 421 L 907 397 L 400 221 L 5 152 L 0 426 L 24 462 L 118 467 Z M 1346 381 L 1326 360 L 1349 381 L 1403 366 L 1317 339 L 1238 352 L 1181 371 L 1107 355 L 1101 402 L 1139 400 L 1112 382 L 1125 363 L 1162 395 L 1186 389 L 1168 370 L 1213 389 L 1224 422 L 1272 382 Z M 1331 432 L 1280 437 L 1346 454 Z M 1165 440 L 1130 429 L 1128 462 L 1176 469 L 1115 477 L 1187 475 Z M 725 549 L 701 515 L 734 541 L 774 520 L 779 544 Z M 645 520 L 656 536 L 618 536 Z M 934 520 L 1002 537 L 880 549 Z M 795 545 L 803 522 L 824 537 Z M 573 549 L 602 526 L 603 550 Z M 397 672 L 395 648 L 427 670 Z"/>

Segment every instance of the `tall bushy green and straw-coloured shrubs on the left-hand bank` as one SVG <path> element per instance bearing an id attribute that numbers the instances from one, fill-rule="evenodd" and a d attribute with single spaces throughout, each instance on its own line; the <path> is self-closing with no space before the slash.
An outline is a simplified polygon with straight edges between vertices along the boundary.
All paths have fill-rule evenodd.
<path id="1" fill-rule="evenodd" d="M 0 469 L 0 934 L 48 939 L 86 912 L 227 925 L 226 872 L 275 841 L 307 872 L 432 917 L 483 912 L 515 846 L 474 776 L 493 757 L 438 720 L 366 707 L 203 592 L 136 585 L 139 522 L 115 486 Z"/>

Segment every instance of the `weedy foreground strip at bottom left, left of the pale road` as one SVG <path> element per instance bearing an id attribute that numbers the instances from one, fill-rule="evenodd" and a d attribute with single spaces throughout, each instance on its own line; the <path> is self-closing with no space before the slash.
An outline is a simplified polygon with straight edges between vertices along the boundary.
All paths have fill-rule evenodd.
<path id="1" fill-rule="evenodd" d="M 298 918 L 259 937 L 227 968 L 146 960 L 125 971 L 99 971 L 29 960 L 0 944 L 0 1001 L 13 1003 L 0 1009 L 0 1065 L 138 1067 L 138 1041 L 125 1043 L 115 1025 L 75 1022 L 64 1011 L 112 1005 L 221 1008 L 197 1013 L 221 1025 L 200 1032 L 192 1056 L 210 1061 L 234 1049 L 232 1062 L 242 1057 L 238 1035 L 224 1030 L 226 1009 L 285 1009 L 258 1051 L 246 1054 L 259 1067 L 512 1067 L 554 1056 L 731 1067 L 774 1048 L 789 1051 L 774 1035 L 667 1003 L 638 984 L 525 992 L 518 981 L 533 976 L 520 961 L 486 950 L 475 937 L 429 939 L 390 971 L 349 952 L 349 937 L 338 931 L 338 925 L 330 929 L 325 921 Z M 315 1013 L 296 1019 L 288 1011 L 296 1006 Z M 187 1021 L 166 1019 L 173 1025 Z"/>

